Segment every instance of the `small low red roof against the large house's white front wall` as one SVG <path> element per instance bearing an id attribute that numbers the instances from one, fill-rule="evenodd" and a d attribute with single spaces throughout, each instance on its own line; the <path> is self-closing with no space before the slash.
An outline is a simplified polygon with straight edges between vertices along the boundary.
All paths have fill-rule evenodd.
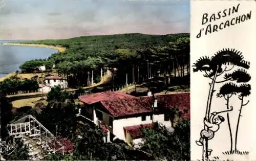
<path id="1" fill-rule="evenodd" d="M 126 126 L 123 128 L 127 131 L 127 133 L 131 135 L 132 139 L 139 139 L 143 137 L 143 133 L 141 129 L 150 128 L 150 127 L 153 127 L 153 123 L 136 125 L 136 126 Z"/>

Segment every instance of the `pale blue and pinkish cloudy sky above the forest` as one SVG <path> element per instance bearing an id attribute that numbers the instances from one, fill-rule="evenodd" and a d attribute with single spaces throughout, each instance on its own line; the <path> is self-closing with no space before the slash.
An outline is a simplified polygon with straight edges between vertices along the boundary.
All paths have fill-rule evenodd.
<path id="1" fill-rule="evenodd" d="M 190 32 L 189 0 L 0 0 L 1 6 L 1 40 Z"/>

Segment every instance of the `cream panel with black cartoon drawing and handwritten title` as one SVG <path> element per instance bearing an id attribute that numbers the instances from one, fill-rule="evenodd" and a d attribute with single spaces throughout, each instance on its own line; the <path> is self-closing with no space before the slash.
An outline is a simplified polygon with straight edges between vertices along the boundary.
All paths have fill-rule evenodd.
<path id="1" fill-rule="evenodd" d="M 191 1 L 191 160 L 256 158 L 255 6 Z"/>

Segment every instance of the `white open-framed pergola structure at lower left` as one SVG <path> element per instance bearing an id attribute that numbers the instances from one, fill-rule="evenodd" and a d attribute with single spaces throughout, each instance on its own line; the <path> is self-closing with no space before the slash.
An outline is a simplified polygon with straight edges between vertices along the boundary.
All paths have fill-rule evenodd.
<path id="1" fill-rule="evenodd" d="M 7 129 L 10 135 L 22 139 L 28 145 L 32 160 L 45 158 L 55 152 L 64 153 L 64 146 L 31 115 L 8 124 Z"/>

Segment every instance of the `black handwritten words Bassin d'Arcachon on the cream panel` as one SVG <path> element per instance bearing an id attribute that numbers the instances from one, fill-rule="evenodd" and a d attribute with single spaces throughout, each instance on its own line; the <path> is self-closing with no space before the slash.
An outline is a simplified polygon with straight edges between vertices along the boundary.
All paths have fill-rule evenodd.
<path id="1" fill-rule="evenodd" d="M 237 6 L 233 6 L 229 9 L 222 10 L 218 13 L 212 13 L 212 14 L 204 13 L 202 16 L 202 25 L 207 24 L 207 22 L 210 23 L 227 16 L 232 16 L 232 14 L 239 12 L 239 7 L 240 7 L 240 4 L 238 4 Z M 214 32 L 218 32 L 222 29 L 225 29 L 230 26 L 234 26 L 236 24 L 240 24 L 241 22 L 244 22 L 249 19 L 251 19 L 251 11 L 245 14 L 241 14 L 239 16 L 233 16 L 228 20 L 220 22 L 218 25 L 208 24 L 206 27 L 200 29 L 199 33 L 197 34 L 197 38 L 200 38 L 201 34 L 207 35 Z"/>

